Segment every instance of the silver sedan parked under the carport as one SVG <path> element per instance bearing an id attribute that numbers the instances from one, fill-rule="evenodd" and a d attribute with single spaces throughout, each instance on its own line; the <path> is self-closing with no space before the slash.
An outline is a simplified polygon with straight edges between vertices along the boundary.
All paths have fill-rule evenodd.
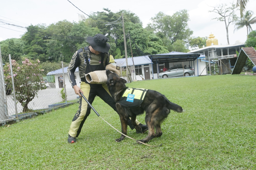
<path id="1" fill-rule="evenodd" d="M 184 76 L 191 76 L 195 74 L 194 68 L 184 67 Z M 158 74 L 158 78 L 167 78 L 167 77 L 180 77 L 183 76 L 183 66 L 171 67 L 165 72 Z"/>

